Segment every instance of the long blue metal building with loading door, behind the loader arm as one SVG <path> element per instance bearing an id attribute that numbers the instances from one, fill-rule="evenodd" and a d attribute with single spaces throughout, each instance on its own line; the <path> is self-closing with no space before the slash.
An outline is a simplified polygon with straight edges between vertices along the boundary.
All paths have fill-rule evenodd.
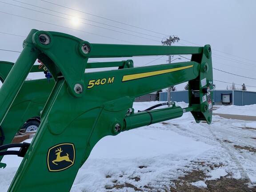
<path id="1" fill-rule="evenodd" d="M 167 101 L 167 92 L 160 92 L 160 101 Z M 188 91 L 171 92 L 172 101 L 188 103 Z M 213 91 L 213 104 L 250 105 L 256 104 L 256 92 L 240 90 Z"/>

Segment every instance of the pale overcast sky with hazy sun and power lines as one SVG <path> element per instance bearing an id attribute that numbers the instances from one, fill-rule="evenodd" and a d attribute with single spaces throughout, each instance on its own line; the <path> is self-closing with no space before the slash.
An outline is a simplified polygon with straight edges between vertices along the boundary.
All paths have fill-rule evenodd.
<path id="1" fill-rule="evenodd" d="M 161 45 L 176 35 L 174 46 L 212 46 L 217 89 L 234 82 L 256 91 L 255 8 L 255 0 L 0 0 L 0 60 L 15 62 L 32 28 L 104 44 Z M 167 63 L 167 56 L 157 58 L 134 65 Z"/>

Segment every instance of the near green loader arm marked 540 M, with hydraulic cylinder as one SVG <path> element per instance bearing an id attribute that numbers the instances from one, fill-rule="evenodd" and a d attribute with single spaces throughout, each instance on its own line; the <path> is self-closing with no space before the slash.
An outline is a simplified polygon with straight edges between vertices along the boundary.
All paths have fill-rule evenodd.
<path id="1" fill-rule="evenodd" d="M 69 191 L 79 168 L 104 136 L 177 118 L 184 112 L 192 112 L 197 123 L 203 120 L 210 124 L 214 87 L 211 53 L 210 45 L 90 44 L 64 33 L 32 29 L 0 88 L 1 122 L 36 59 L 44 63 L 56 83 L 9 191 Z M 191 54 L 191 61 L 137 68 L 132 60 L 88 63 L 89 58 L 180 54 Z M 118 69 L 88 72 L 88 68 L 101 67 Z M 188 108 L 173 104 L 134 112 L 136 97 L 186 81 Z"/>

